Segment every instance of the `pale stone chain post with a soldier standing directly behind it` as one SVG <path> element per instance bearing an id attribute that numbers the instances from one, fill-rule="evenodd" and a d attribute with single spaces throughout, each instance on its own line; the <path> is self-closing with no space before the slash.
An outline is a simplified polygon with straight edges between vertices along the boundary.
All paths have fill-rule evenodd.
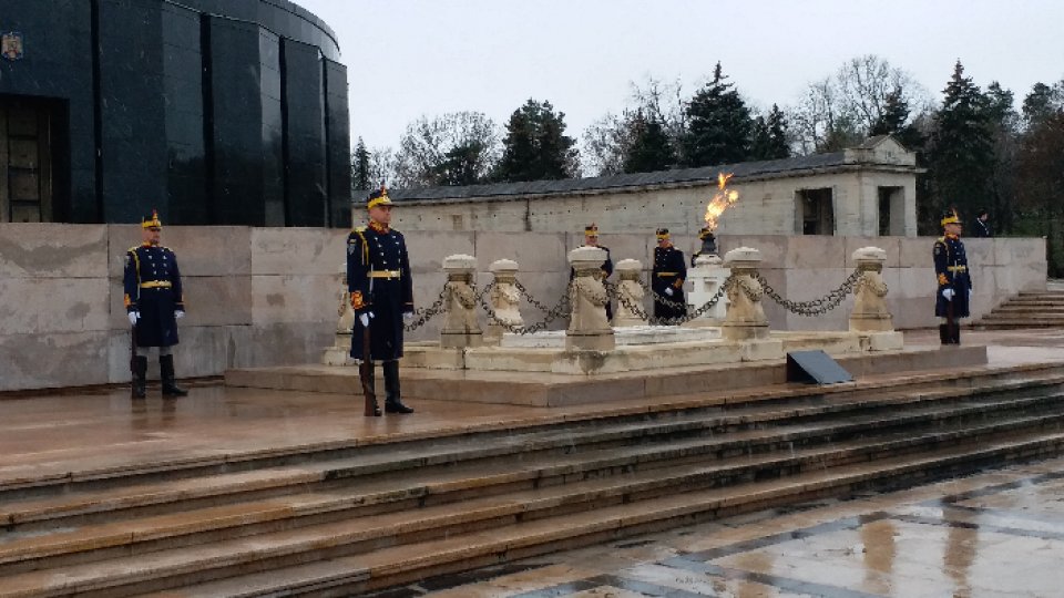
<path id="1" fill-rule="evenodd" d="M 597 247 L 577 247 L 569 252 L 576 276 L 569 291 L 572 313 L 565 331 L 566 350 L 611 351 L 616 346 L 613 328 L 606 320 L 606 288 L 600 276 L 606 251 Z"/>

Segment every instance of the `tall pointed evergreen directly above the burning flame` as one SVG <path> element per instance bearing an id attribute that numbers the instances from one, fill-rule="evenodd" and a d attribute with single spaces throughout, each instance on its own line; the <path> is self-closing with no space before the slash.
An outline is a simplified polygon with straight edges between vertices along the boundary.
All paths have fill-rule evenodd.
<path id="1" fill-rule="evenodd" d="M 726 79 L 718 62 L 713 81 L 687 105 L 683 147 L 688 166 L 743 162 L 750 155 L 754 121 L 746 103 Z"/>

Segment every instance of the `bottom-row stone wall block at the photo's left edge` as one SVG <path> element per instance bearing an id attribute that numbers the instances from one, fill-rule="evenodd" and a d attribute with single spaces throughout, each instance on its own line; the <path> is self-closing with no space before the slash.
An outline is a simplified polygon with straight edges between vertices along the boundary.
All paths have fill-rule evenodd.
<path id="1" fill-rule="evenodd" d="M 0 391 L 105 384 L 108 331 L 0 334 Z"/>

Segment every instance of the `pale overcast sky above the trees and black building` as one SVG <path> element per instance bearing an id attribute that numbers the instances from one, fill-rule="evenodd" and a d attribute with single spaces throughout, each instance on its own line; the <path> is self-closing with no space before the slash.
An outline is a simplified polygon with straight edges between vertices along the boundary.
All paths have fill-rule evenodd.
<path id="1" fill-rule="evenodd" d="M 876 54 L 935 101 L 958 59 L 984 87 L 1064 79 L 1060 0 L 295 0 L 337 33 L 351 144 L 396 147 L 406 125 L 483 112 L 498 125 L 529 97 L 565 113 L 577 140 L 631 96 L 679 80 L 689 96 L 720 61 L 758 107 Z"/>

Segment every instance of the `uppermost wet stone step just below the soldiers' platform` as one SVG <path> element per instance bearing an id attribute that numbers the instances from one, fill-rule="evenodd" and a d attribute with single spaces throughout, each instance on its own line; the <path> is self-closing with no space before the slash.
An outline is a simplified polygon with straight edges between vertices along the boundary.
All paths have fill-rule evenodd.
<path id="1" fill-rule="evenodd" d="M 669 414 L 653 421 L 640 417 L 634 421 L 621 417 L 617 421 L 594 420 L 577 425 L 530 430 L 504 437 L 458 437 L 423 443 L 398 444 L 376 450 L 370 447 L 354 457 L 329 461 L 310 461 L 301 465 L 270 467 L 252 472 L 219 474 L 192 480 L 135 484 L 95 492 L 64 493 L 59 496 L 31 497 L 7 501 L 0 506 L 0 520 L 10 532 L 32 532 L 49 526 L 71 527 L 94 522 L 116 522 L 132 516 L 168 514 L 177 509 L 224 506 L 243 501 L 268 501 L 287 496 L 293 492 L 327 489 L 356 477 L 392 474 L 417 468 L 429 471 L 440 466 L 451 468 L 456 464 L 474 462 L 475 466 L 490 461 L 521 455 L 528 458 L 533 453 L 544 453 L 554 458 L 561 452 L 610 447 L 648 442 L 655 437 L 676 439 L 683 435 L 720 434 L 740 427 L 764 426 L 789 420 L 794 423 L 815 419 L 853 417 L 857 412 L 877 410 L 919 409 L 922 405 L 942 404 L 956 400 L 978 398 L 988 401 L 1003 393 L 1015 401 L 1023 396 L 1039 396 L 1060 391 L 1064 374 L 1042 374 L 1016 381 L 998 382 L 996 385 L 973 385 L 964 389 L 958 398 L 958 389 L 931 388 L 920 393 L 888 393 L 893 389 L 877 389 L 874 392 L 835 393 L 792 398 L 777 403 L 760 398 L 761 403 L 737 403 L 726 409 L 696 409 Z M 866 398 L 867 395 L 870 395 Z M 876 396 L 878 394 L 878 396 Z M 724 415 L 724 414 L 727 415 Z M 860 421 L 855 420 L 860 424 Z M 855 422 L 839 427 L 846 429 Z M 835 424 L 839 425 L 839 424 Z M 559 448 L 560 446 L 564 448 Z M 0 534 L 0 542 L 4 535 Z"/>

